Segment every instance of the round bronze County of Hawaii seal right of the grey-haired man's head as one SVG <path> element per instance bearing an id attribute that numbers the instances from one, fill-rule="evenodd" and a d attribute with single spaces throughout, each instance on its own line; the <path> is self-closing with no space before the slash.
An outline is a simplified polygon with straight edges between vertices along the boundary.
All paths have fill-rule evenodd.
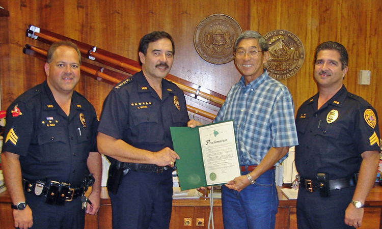
<path id="1" fill-rule="evenodd" d="M 282 80 L 296 74 L 305 60 L 303 42 L 286 30 L 271 31 L 264 38 L 269 45 L 269 60 L 264 65 L 269 76 Z"/>

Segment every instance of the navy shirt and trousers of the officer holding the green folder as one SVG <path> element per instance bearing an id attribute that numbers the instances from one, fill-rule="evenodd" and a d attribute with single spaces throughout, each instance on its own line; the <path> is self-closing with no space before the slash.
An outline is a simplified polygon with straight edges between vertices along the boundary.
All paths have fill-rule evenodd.
<path id="1" fill-rule="evenodd" d="M 98 131 L 122 139 L 129 145 L 156 152 L 165 147 L 173 149 L 170 126 L 186 126 L 187 108 L 183 92 L 172 82 L 162 80 L 162 100 L 149 86 L 142 72 L 122 81 L 107 96 Z M 121 226 L 117 217 L 138 219 L 141 212 L 129 206 L 145 205 L 148 212 L 155 202 L 165 204 L 158 220 L 168 221 L 172 208 L 172 168 L 129 163 L 116 194 L 109 192 L 114 213 L 113 227 Z M 116 201 L 117 200 L 117 201 Z M 121 205 L 122 203 L 122 205 Z M 125 216 L 129 216 L 126 218 Z M 132 220 L 135 222 L 136 220 Z M 143 220 L 146 228 L 150 220 Z M 118 226 L 117 226 L 118 225 Z M 129 227 L 126 227 L 129 228 Z"/>

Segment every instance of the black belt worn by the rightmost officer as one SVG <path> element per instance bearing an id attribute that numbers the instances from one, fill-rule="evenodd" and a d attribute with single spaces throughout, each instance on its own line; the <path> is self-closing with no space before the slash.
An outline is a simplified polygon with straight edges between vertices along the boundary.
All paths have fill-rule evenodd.
<path id="1" fill-rule="evenodd" d="M 300 177 L 300 187 L 304 188 L 305 190 L 307 190 L 309 192 L 319 191 L 320 184 L 321 183 L 318 181 L 313 181 L 313 180 L 304 179 L 303 177 Z M 330 190 L 348 188 L 348 187 L 351 187 L 354 185 L 357 185 L 356 176 L 347 177 L 347 178 L 340 178 L 340 179 L 329 181 L 329 189 Z"/>

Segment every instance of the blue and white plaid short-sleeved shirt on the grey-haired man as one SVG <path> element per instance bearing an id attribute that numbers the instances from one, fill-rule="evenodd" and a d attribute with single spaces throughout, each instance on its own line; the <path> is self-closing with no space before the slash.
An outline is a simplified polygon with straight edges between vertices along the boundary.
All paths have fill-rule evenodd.
<path id="1" fill-rule="evenodd" d="M 292 96 L 265 69 L 248 85 L 242 76 L 232 86 L 213 122 L 226 120 L 234 121 L 241 165 L 258 165 L 271 147 L 298 145 Z"/>

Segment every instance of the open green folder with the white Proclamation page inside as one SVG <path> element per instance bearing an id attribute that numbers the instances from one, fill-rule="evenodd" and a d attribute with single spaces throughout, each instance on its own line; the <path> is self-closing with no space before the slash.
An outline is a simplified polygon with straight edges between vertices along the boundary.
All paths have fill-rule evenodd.
<path id="1" fill-rule="evenodd" d="M 170 127 L 181 190 L 221 185 L 241 175 L 233 121 Z"/>

